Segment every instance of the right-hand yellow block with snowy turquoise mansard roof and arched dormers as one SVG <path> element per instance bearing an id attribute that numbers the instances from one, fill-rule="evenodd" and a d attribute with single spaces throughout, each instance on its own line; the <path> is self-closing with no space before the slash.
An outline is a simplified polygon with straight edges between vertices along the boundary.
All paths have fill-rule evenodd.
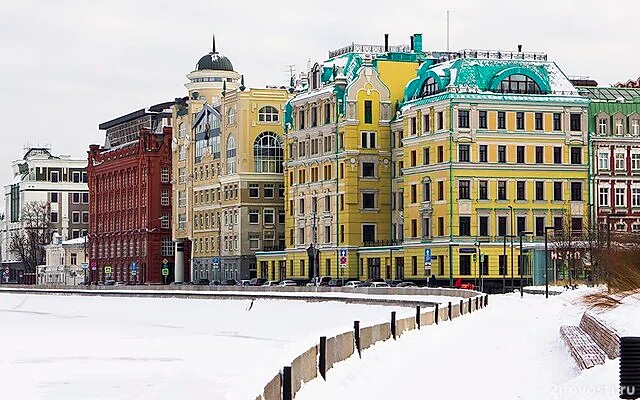
<path id="1" fill-rule="evenodd" d="M 425 62 L 405 100 L 392 124 L 394 220 L 412 268 L 399 278 L 519 285 L 519 236 L 534 253 L 545 227 L 586 228 L 588 101 L 545 54 Z M 523 255 L 523 275 L 533 262 Z"/>

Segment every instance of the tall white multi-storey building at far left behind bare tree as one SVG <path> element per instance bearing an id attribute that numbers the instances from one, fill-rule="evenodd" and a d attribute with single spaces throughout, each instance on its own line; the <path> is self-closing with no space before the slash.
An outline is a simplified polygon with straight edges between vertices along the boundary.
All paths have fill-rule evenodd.
<path id="1" fill-rule="evenodd" d="M 89 226 L 87 160 L 51 154 L 48 147 L 30 147 L 22 159 L 13 161 L 13 180 L 4 185 L 5 213 L 1 223 L 2 264 L 11 269 L 11 279 L 19 280 L 23 268 L 8 251 L 9 238 L 22 229 L 20 216 L 30 202 L 50 205 L 53 231 L 63 240 L 86 236 Z"/>

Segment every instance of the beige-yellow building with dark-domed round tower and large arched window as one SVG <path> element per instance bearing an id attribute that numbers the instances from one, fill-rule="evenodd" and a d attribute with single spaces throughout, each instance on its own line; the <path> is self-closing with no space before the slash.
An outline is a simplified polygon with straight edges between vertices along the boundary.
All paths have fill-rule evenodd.
<path id="1" fill-rule="evenodd" d="M 282 118 L 290 94 L 247 88 L 215 39 L 187 79 L 187 96 L 173 107 L 175 280 L 249 279 L 256 251 L 284 246 Z"/>

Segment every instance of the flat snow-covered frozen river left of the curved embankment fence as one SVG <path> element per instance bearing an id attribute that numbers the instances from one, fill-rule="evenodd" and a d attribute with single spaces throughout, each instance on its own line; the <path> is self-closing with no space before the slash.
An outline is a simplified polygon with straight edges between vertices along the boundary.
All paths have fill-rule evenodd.
<path id="1" fill-rule="evenodd" d="M 412 308 L 0 293 L 0 398 L 251 399 L 298 354 Z"/>

